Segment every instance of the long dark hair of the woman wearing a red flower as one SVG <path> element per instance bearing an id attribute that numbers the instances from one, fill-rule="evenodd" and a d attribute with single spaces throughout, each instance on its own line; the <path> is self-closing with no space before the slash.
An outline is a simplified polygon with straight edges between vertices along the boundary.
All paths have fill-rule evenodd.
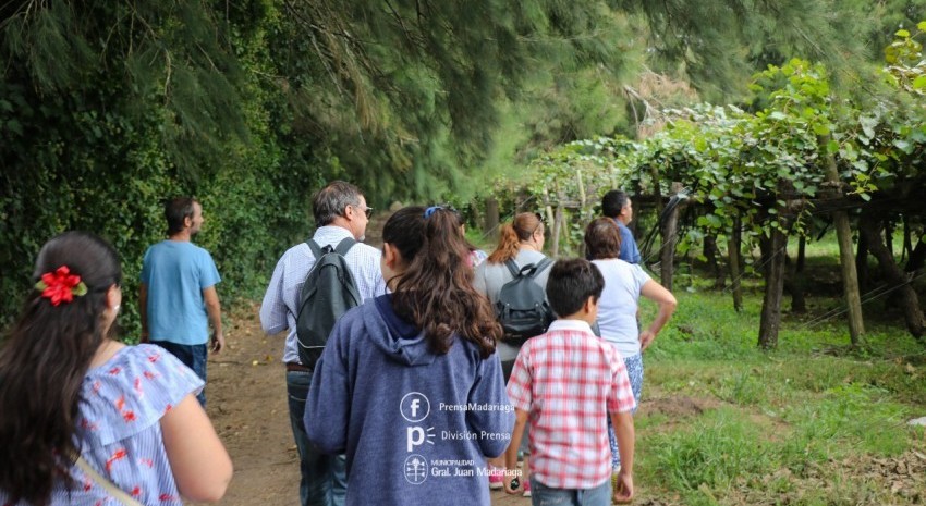
<path id="1" fill-rule="evenodd" d="M 71 456 L 80 453 L 73 437 L 81 385 L 105 338 L 107 291 L 122 281 L 112 247 L 84 232 L 46 243 L 33 283 L 62 266 L 87 293 L 53 306 L 34 288 L 0 349 L 0 490 L 12 504 L 46 506 L 54 480 L 69 479 Z"/>

